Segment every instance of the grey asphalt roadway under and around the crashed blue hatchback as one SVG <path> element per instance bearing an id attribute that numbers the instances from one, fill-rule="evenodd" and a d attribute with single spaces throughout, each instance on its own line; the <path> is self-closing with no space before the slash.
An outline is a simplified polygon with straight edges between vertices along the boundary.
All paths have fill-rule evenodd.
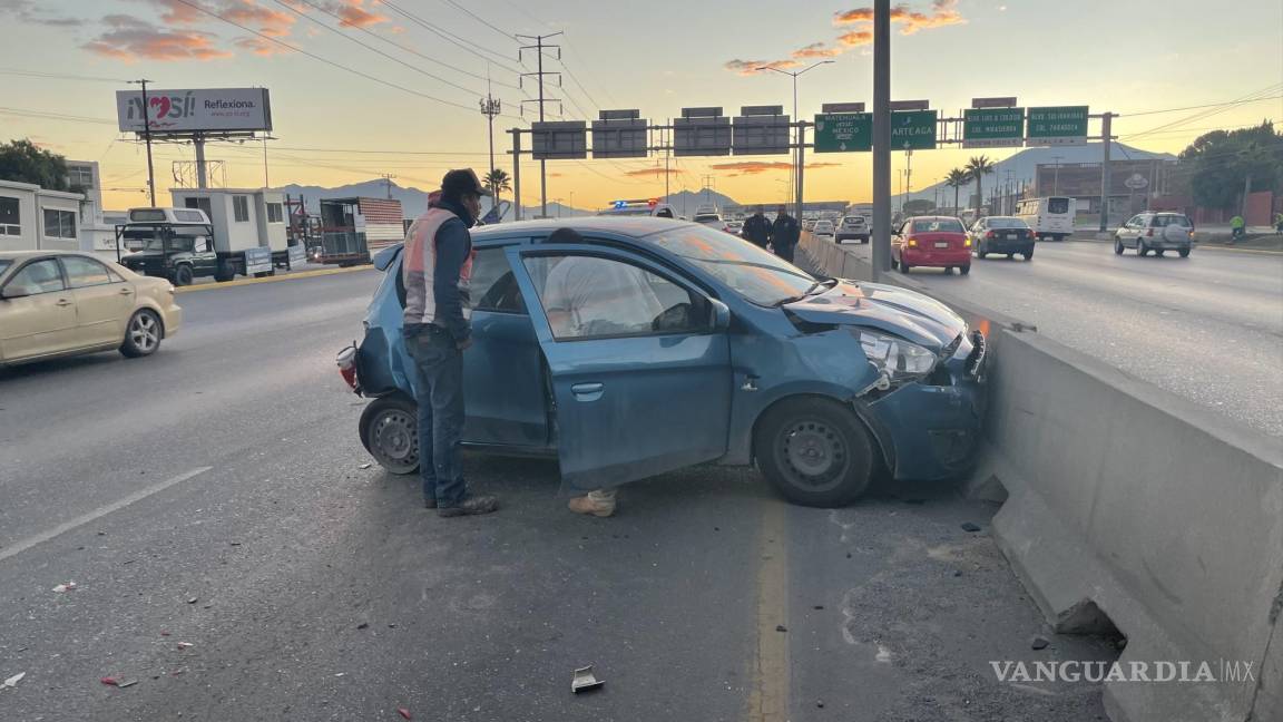
<path id="1" fill-rule="evenodd" d="M 470 457 L 500 513 L 425 511 L 332 364 L 376 283 L 187 293 L 150 358 L 0 371 L 0 719 L 1103 718 L 1094 685 L 996 680 L 1116 653 L 1047 635 L 947 486 L 825 511 L 697 468 L 586 519 L 556 465 Z"/>

